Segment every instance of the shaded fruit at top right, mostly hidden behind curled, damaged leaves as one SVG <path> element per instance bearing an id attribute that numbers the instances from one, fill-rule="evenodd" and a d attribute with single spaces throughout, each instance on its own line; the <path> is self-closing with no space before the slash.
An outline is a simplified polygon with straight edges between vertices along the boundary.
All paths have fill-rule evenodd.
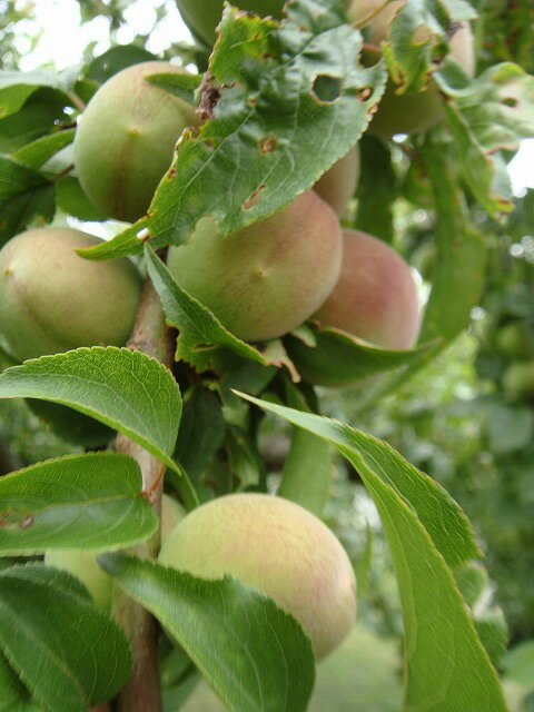
<path id="1" fill-rule="evenodd" d="M 366 26 L 368 42 L 379 46 L 380 42 L 389 39 L 392 22 L 405 1 L 394 0 L 384 6 L 383 0 L 345 0 L 345 4 L 348 8 L 347 14 L 350 21 L 358 26 Z M 459 28 L 449 40 L 449 46 L 451 56 L 468 75 L 473 75 L 474 40 L 467 22 L 459 23 Z M 380 56 L 382 52 L 378 49 L 366 50 L 363 61 L 375 63 Z M 379 109 L 369 125 L 369 132 L 385 137 L 394 134 L 418 134 L 426 131 L 444 118 L 443 99 L 434 82 L 431 82 L 425 91 L 397 95 L 395 85 L 388 81 Z"/>

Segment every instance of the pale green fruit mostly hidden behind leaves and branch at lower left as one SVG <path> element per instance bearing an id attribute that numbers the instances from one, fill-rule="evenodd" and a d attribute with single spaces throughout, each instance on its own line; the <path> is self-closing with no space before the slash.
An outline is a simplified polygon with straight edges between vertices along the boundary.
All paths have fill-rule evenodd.
<path id="1" fill-rule="evenodd" d="M 161 541 L 186 516 L 179 502 L 164 494 L 161 500 Z M 76 576 L 86 586 L 95 604 L 103 611 L 111 609 L 112 577 L 97 563 L 98 552 L 57 548 L 44 554 L 44 565 L 61 568 Z"/>

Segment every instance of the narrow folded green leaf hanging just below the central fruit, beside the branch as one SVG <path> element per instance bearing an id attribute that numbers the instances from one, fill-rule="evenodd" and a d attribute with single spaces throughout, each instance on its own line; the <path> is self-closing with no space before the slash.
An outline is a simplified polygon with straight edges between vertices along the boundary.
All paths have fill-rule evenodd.
<path id="1" fill-rule="evenodd" d="M 177 360 L 181 358 L 199 370 L 206 370 L 212 355 L 209 347 L 224 346 L 238 356 L 268 366 L 269 362 L 256 348 L 230 334 L 207 307 L 184 291 L 148 245 L 145 246 L 145 259 L 149 277 L 161 299 L 167 323 L 180 329 Z"/>

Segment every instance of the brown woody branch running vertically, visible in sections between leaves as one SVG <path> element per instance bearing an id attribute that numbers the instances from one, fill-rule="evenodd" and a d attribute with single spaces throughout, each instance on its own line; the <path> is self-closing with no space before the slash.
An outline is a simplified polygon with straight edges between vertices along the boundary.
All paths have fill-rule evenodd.
<path id="1" fill-rule="evenodd" d="M 159 297 L 149 279 L 145 284 L 136 324 L 127 347 L 157 358 L 168 368 L 172 364 L 170 332 L 165 324 Z M 137 443 L 120 434 L 117 436 L 115 448 L 119 453 L 134 457 L 139 464 L 144 492 L 150 493 L 150 505 L 159 517 L 164 484 L 161 463 Z M 128 551 L 141 558 L 154 557 L 159 551 L 159 544 L 158 530 L 150 540 Z M 113 710 L 116 712 L 161 712 L 158 623 L 146 609 L 129 599 L 118 585 L 113 586 L 112 611 L 134 651 L 132 673 L 119 692 Z"/>

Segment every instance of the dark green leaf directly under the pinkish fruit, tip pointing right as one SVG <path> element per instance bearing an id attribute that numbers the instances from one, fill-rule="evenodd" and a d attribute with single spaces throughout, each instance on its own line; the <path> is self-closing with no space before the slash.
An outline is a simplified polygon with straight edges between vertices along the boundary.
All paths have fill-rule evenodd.
<path id="1" fill-rule="evenodd" d="M 369 376 L 417 363 L 434 348 L 433 344 L 425 344 L 418 349 L 390 352 L 335 328 L 314 327 L 314 335 L 315 346 L 291 335 L 284 343 L 305 379 L 332 387 L 355 385 Z"/>

